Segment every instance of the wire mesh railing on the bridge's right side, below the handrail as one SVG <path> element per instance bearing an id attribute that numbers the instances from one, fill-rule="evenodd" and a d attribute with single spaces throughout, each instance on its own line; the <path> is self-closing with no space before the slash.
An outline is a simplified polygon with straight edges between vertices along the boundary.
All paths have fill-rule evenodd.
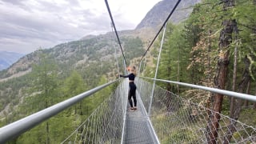
<path id="1" fill-rule="evenodd" d="M 137 85 L 142 102 L 145 106 L 150 103 L 153 83 L 138 79 Z M 207 143 L 210 140 L 210 117 L 213 110 L 181 98 L 177 94 L 155 86 L 150 121 L 161 143 Z M 256 129 L 242 122 L 219 114 L 218 138 L 216 143 L 224 143 L 229 131 L 230 122 L 235 123 L 234 134 L 230 135 L 230 143 L 256 142 Z"/>

